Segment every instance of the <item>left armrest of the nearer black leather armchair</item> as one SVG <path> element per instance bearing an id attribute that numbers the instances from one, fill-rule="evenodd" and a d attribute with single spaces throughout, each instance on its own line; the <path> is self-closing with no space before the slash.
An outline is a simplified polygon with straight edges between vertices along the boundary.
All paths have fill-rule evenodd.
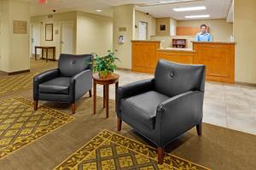
<path id="1" fill-rule="evenodd" d="M 132 82 L 130 84 L 126 84 L 125 86 L 119 87 L 115 99 L 117 115 L 120 115 L 119 106 L 121 105 L 121 99 L 125 99 L 137 94 L 143 94 L 150 90 L 154 90 L 154 78 Z"/>

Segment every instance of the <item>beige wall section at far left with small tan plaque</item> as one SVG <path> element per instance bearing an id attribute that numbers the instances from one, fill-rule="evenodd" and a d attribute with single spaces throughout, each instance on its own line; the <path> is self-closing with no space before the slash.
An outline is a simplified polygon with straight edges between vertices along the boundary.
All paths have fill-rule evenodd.
<path id="1" fill-rule="evenodd" d="M 1 13 L 0 70 L 5 72 L 30 69 L 29 60 L 29 3 L 20 0 L 3 0 Z M 27 22 L 26 34 L 13 33 L 13 20 Z M 4 43 L 3 43 L 4 42 Z"/>

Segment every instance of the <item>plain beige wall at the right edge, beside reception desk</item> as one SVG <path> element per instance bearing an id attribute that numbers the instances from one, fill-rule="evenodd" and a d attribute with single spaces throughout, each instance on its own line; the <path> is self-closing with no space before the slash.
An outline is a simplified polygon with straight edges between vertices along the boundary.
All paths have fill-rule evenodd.
<path id="1" fill-rule="evenodd" d="M 235 0 L 236 82 L 256 83 L 256 1 Z"/>

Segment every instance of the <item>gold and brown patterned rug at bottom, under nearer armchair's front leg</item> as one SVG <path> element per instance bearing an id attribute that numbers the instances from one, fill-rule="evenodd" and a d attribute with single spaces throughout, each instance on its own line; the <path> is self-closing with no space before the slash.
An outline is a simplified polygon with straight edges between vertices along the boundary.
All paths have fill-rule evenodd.
<path id="1" fill-rule="evenodd" d="M 166 154 L 164 163 L 158 165 L 154 148 L 104 130 L 55 167 L 55 170 L 63 169 L 208 170 L 209 168 L 171 154 Z"/>

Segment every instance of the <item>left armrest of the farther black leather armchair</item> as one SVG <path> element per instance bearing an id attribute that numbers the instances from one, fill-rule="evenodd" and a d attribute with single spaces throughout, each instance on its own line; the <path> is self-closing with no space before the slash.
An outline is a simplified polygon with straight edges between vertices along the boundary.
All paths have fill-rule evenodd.
<path id="1" fill-rule="evenodd" d="M 38 100 L 38 86 L 40 83 L 47 82 L 58 76 L 59 76 L 59 70 L 53 69 L 49 71 L 44 71 L 41 74 L 33 77 L 33 98 L 35 100 Z"/>

